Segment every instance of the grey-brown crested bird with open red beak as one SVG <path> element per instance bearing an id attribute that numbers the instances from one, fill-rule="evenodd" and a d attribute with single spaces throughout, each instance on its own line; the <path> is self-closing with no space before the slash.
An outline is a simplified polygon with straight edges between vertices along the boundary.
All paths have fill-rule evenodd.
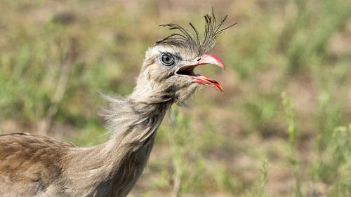
<path id="1" fill-rule="evenodd" d="M 152 151 L 157 130 L 172 104 L 187 101 L 203 86 L 223 91 L 207 76 L 195 74 L 201 64 L 225 69 L 209 51 L 225 19 L 204 15 L 204 35 L 169 23 L 177 31 L 147 49 L 130 95 L 99 93 L 110 101 L 102 109 L 110 140 L 94 147 L 29 133 L 0 135 L 0 196 L 118 196 L 133 189 Z M 235 25 L 235 24 L 234 24 Z"/>

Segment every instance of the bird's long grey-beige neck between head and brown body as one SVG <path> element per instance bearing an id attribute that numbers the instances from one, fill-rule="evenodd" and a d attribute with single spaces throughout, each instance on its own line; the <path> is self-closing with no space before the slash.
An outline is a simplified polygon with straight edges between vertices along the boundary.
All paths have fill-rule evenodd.
<path id="1" fill-rule="evenodd" d="M 143 172 L 150 156 L 154 137 L 171 102 L 164 102 L 155 95 L 144 100 L 145 95 L 133 93 L 124 99 L 112 99 L 105 111 L 112 138 L 95 147 L 84 149 L 84 158 L 73 161 L 80 173 L 74 172 L 77 181 L 84 177 L 84 184 L 76 187 L 89 193 L 126 196 Z M 157 101 L 157 102 L 155 102 Z M 73 170 L 74 171 L 74 170 Z M 90 188 L 87 183 L 91 183 Z M 88 191 L 87 191 L 88 190 Z"/>

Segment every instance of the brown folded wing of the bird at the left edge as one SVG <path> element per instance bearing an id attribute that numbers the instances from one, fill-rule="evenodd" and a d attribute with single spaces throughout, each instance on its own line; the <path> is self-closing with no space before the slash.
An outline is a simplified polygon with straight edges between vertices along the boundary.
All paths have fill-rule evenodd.
<path id="1" fill-rule="evenodd" d="M 29 133 L 0 135 L 0 196 L 4 193 L 36 196 L 44 192 L 60 177 L 60 160 L 76 147 L 70 142 Z"/>

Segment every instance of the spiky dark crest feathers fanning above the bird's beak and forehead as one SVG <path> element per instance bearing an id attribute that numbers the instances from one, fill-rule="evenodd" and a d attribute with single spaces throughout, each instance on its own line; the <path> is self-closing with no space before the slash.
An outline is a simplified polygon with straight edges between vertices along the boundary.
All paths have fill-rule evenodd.
<path id="1" fill-rule="evenodd" d="M 204 31 L 204 36 L 202 37 L 202 40 L 199 37 L 199 32 L 197 32 L 197 29 L 194 27 L 194 25 L 192 25 L 192 23 L 189 23 L 189 24 L 192 27 L 192 30 L 194 30 L 194 34 L 189 30 L 181 27 L 180 25 L 170 23 L 170 24 L 160 25 L 160 26 L 170 27 L 169 29 L 178 29 L 180 31 L 180 34 L 178 33 L 171 34 L 170 36 L 167 36 L 165 39 L 162 39 L 161 41 L 157 41 L 155 43 L 155 46 L 159 44 L 168 44 L 171 46 L 183 46 L 188 50 L 194 51 L 195 53 L 197 53 L 197 55 L 202 55 L 204 53 L 208 53 L 213 48 L 213 46 L 216 44 L 216 38 L 218 34 L 222 33 L 225 29 L 228 29 L 237 24 L 237 23 L 234 23 L 229 27 L 225 27 L 221 29 L 220 27 L 222 27 L 223 22 L 225 22 L 227 15 L 218 25 L 216 25 L 216 17 L 213 13 L 213 10 L 212 10 L 212 16 L 206 14 L 204 15 L 204 18 L 205 18 L 206 24 L 205 24 L 205 31 Z"/>

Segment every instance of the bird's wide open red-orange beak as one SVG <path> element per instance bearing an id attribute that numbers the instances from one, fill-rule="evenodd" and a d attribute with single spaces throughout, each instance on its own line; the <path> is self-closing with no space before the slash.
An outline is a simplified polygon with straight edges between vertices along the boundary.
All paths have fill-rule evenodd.
<path id="1" fill-rule="evenodd" d="M 194 73 L 194 68 L 200 64 L 215 64 L 218 67 L 225 69 L 223 63 L 220 62 L 218 57 L 216 57 L 215 55 L 205 53 L 201 57 L 192 61 L 189 65 L 184 66 L 184 67 L 180 67 L 176 71 L 176 74 L 182 75 L 182 76 L 190 76 L 194 79 L 194 82 L 196 82 L 196 83 L 201 83 L 201 84 L 204 84 L 206 86 L 211 86 L 212 88 L 215 88 L 216 90 L 223 92 L 223 89 L 222 89 L 222 87 L 220 87 L 220 84 L 217 81 L 215 81 L 214 79 L 211 79 L 207 76 L 203 76 L 203 75 Z"/>

